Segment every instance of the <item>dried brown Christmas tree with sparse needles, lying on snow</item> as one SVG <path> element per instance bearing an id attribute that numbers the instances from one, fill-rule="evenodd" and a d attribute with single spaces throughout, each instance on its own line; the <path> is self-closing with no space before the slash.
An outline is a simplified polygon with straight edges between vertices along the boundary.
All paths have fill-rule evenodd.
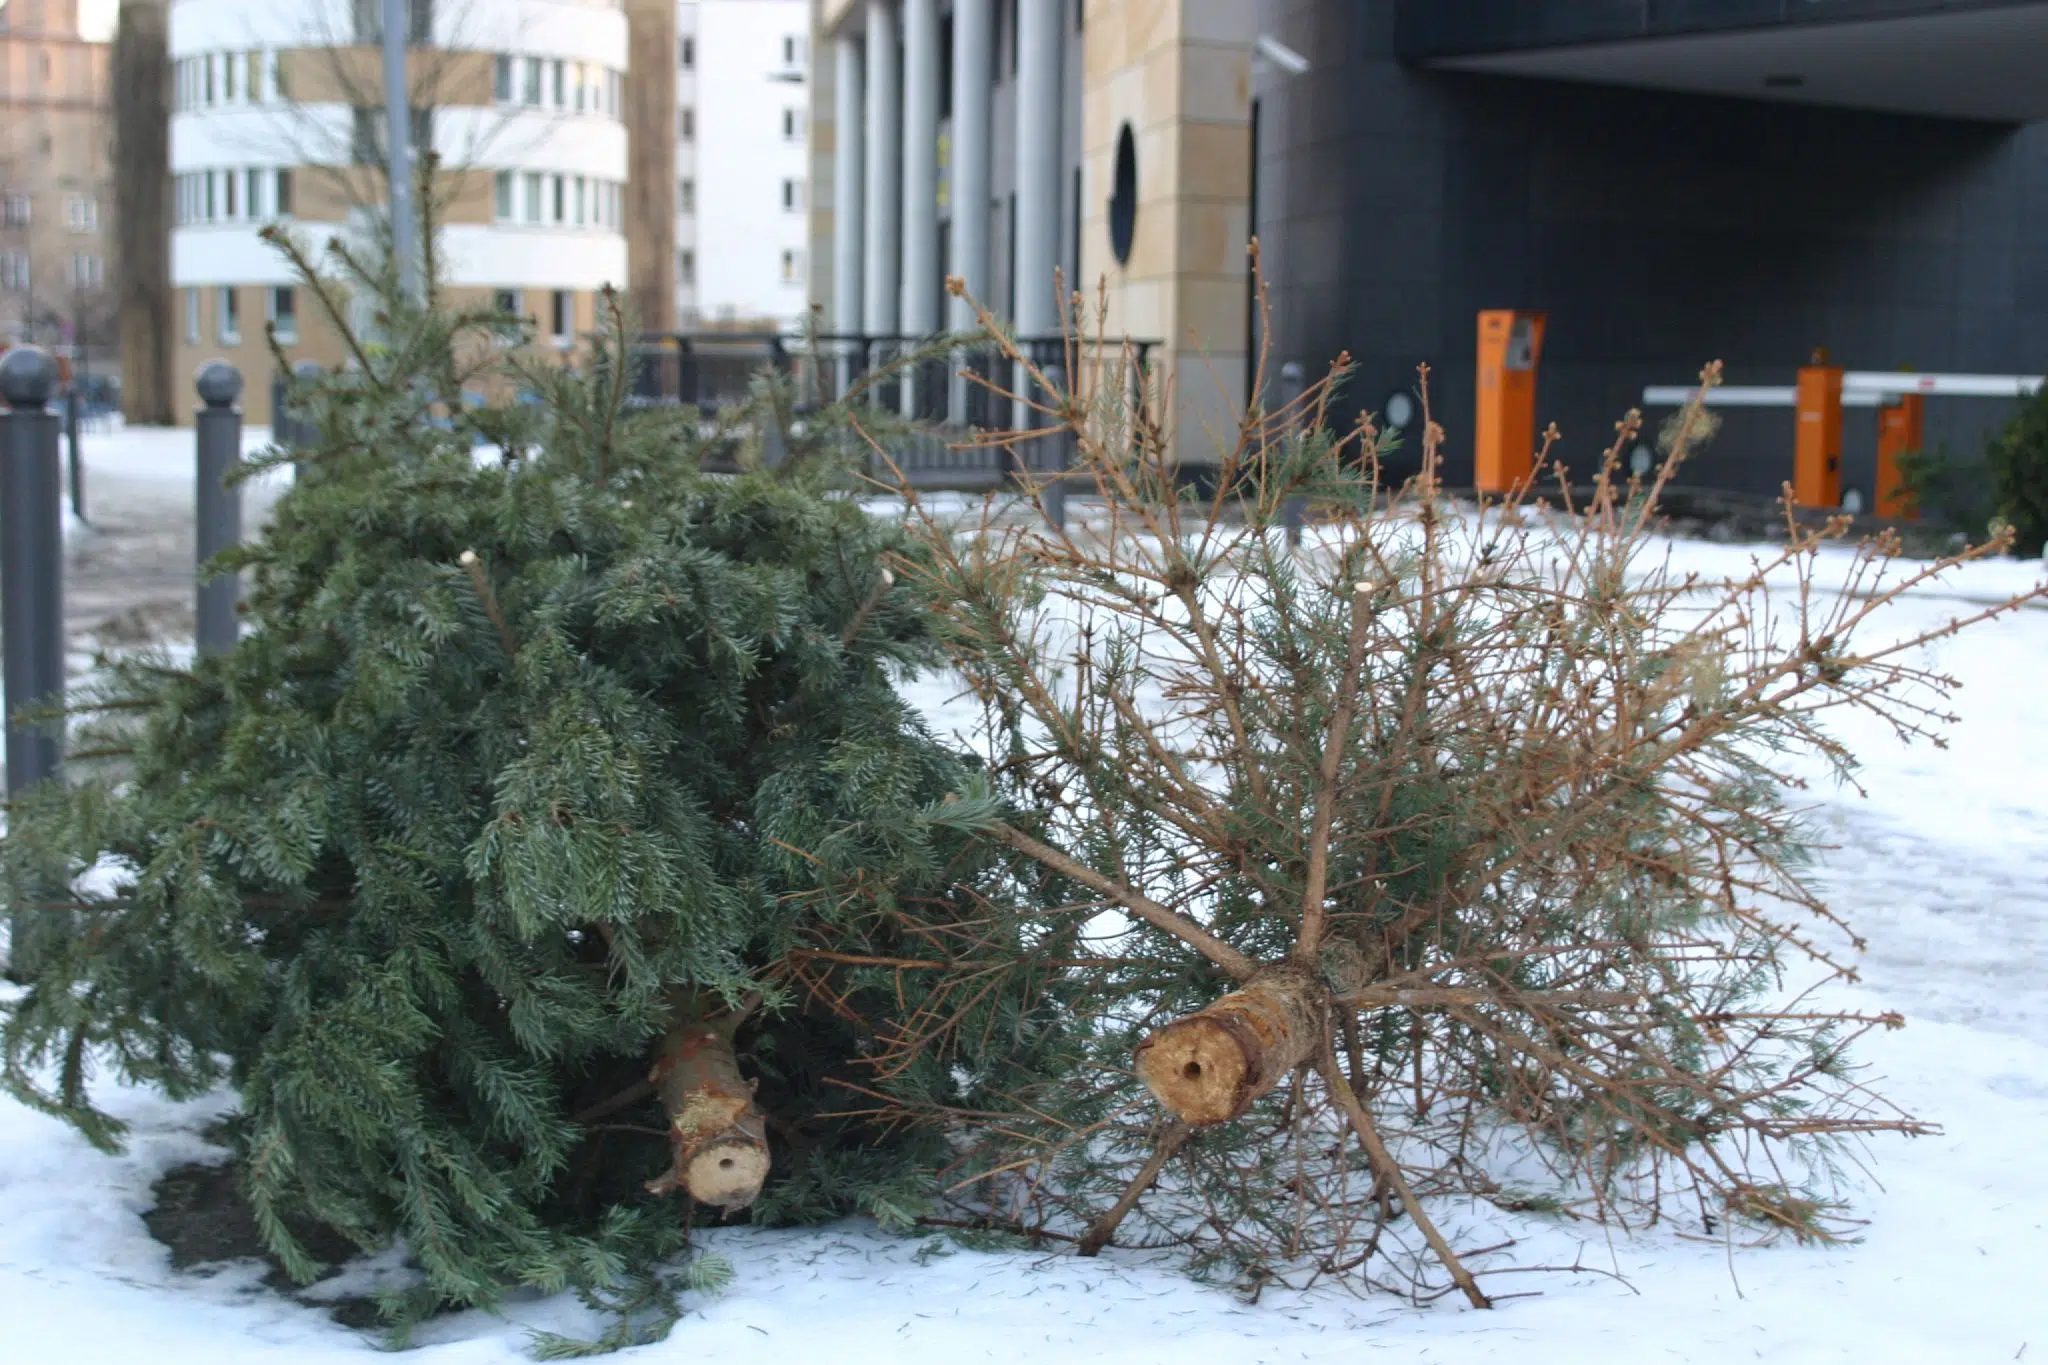
<path id="1" fill-rule="evenodd" d="M 1851 774 L 1845 708 L 1939 743 L 1954 681 L 1921 647 L 2023 600 L 1868 626 L 1999 546 L 1907 563 L 1878 536 L 1825 587 L 1847 526 L 1788 514 L 1741 577 L 1677 575 L 1657 499 L 1698 407 L 1647 481 L 1618 473 L 1630 413 L 1589 501 L 1550 434 L 1556 501 L 1460 503 L 1427 375 L 1421 475 L 1391 489 L 1380 430 L 1325 426 L 1343 362 L 1245 413 L 1196 497 L 1151 417 L 1171 395 L 1110 354 L 1098 323 L 1071 387 L 1010 356 L 1040 411 L 1022 438 L 1067 442 L 1092 495 L 1065 526 L 1044 483 L 924 518 L 989 782 L 1044 812 L 979 827 L 1065 888 L 1040 923 L 1085 956 L 1069 1074 L 930 1109 L 961 1134 L 963 1216 L 1186 1242 L 1251 1283 L 1372 1279 L 1399 1242 L 1417 1293 L 1475 1306 L 1432 1197 L 1829 1236 L 1845 1144 L 1927 1130 L 1849 1062 L 1901 1019 L 1827 995 L 1862 943 L 1810 880 L 1796 755 Z M 944 1017 L 911 1023 L 885 1070 L 946 1046 Z"/>

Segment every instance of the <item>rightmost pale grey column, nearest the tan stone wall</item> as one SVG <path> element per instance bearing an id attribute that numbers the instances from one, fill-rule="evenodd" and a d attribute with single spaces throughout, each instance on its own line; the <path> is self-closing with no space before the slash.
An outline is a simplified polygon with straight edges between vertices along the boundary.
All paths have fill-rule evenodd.
<path id="1" fill-rule="evenodd" d="M 1053 293 L 1059 266 L 1059 47 L 1065 4 L 1038 0 L 1018 14 L 1018 315 L 1020 338 L 1059 329 L 1061 307 Z M 1067 282 L 1069 287 L 1073 280 Z M 1018 426 L 1028 409 L 1018 405 Z"/>

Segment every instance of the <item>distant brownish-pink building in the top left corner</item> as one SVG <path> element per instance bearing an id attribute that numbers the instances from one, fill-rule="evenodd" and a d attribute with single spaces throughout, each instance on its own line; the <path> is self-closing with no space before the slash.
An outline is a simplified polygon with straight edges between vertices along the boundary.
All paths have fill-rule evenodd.
<path id="1" fill-rule="evenodd" d="M 0 342 L 113 372 L 109 45 L 78 0 L 0 0 Z"/>

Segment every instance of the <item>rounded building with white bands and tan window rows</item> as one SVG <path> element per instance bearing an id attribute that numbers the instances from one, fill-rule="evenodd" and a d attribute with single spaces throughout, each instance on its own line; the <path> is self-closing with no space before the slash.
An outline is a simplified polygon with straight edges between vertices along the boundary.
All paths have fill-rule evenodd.
<path id="1" fill-rule="evenodd" d="M 416 145 L 440 158 L 446 299 L 496 303 L 571 346 L 627 284 L 627 18 L 621 0 L 412 0 Z M 743 6 L 741 6 L 743 8 Z M 774 6 L 780 8 L 780 6 Z M 383 213 L 375 0 L 172 0 L 176 372 L 225 356 L 266 422 L 274 323 L 293 358 L 338 338 L 258 239 L 319 248 Z"/>

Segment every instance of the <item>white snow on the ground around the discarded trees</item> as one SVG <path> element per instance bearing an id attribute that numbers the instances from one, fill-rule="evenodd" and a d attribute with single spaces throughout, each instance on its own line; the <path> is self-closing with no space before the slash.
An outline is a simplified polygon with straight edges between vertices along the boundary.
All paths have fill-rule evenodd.
<path id="1" fill-rule="evenodd" d="M 160 444 L 162 456 L 137 446 L 111 458 L 106 479 L 129 458 L 125 477 L 158 477 L 172 442 Z M 1751 555 L 1702 542 L 1671 553 L 1716 577 L 1747 573 Z M 1901 602 L 1884 630 L 1942 624 L 2032 585 L 2040 569 L 1968 567 Z M 1870 939 L 1864 982 L 1835 999 L 1907 1013 L 1911 1025 L 1868 1040 L 1862 1060 L 1886 1095 L 1944 1130 L 1870 1146 L 1858 1244 L 1745 1250 L 1442 1207 L 1466 1244 L 1518 1242 L 1481 1265 L 1524 1267 L 1487 1287 L 1532 1297 L 1470 1312 L 1456 1300 L 1413 1308 L 1343 1291 L 1245 1304 L 1130 1254 L 969 1252 L 858 1222 L 729 1230 L 709 1240 L 737 1271 L 731 1287 L 692 1297 L 664 1345 L 621 1359 L 2048 1359 L 2048 610 L 1964 632 L 1931 657 L 1966 684 L 1948 749 L 1903 749 L 1851 718 L 1839 733 L 1866 759 L 1868 800 L 1831 786 L 1812 794 L 1839 843 L 1825 866 L 1835 905 Z M 946 710 L 940 684 L 920 686 L 918 698 Z M 158 1365 L 240 1365 L 375 1351 L 373 1338 L 264 1289 L 250 1265 L 174 1273 L 141 1214 L 162 1171 L 205 1154 L 197 1134 L 221 1101 L 119 1093 L 113 1107 L 135 1126 L 121 1158 L 0 1101 L 0 1359 L 70 1365 L 141 1349 Z M 594 1326 L 571 1300 L 530 1302 L 504 1318 L 436 1322 L 416 1359 L 516 1361 L 530 1328 Z"/>

